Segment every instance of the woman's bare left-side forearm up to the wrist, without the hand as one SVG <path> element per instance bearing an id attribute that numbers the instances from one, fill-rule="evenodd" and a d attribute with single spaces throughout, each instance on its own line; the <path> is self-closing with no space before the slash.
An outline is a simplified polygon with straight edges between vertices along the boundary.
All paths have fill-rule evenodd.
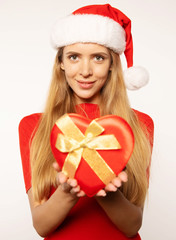
<path id="1" fill-rule="evenodd" d="M 31 190 L 30 190 L 31 191 Z M 28 193 L 32 195 L 32 191 Z M 36 205 L 30 198 L 33 225 L 38 234 L 46 237 L 53 232 L 66 218 L 78 198 L 65 193 L 59 186 L 55 193 L 43 204 Z"/>

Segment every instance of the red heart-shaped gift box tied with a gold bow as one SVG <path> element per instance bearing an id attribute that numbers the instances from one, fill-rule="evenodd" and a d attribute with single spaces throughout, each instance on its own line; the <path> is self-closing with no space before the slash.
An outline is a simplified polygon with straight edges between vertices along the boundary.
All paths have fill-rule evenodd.
<path id="1" fill-rule="evenodd" d="M 94 196 L 126 166 L 134 148 L 130 125 L 121 117 L 95 120 L 65 114 L 52 128 L 50 144 L 62 171 Z"/>

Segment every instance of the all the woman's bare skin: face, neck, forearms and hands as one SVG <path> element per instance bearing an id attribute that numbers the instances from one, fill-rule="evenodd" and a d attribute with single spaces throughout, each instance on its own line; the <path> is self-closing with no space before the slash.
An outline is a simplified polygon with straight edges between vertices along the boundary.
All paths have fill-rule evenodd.
<path id="1" fill-rule="evenodd" d="M 74 92 L 77 104 L 98 104 L 101 88 L 111 70 L 111 56 L 108 49 L 101 45 L 69 45 L 64 47 L 61 69 L 65 71 L 67 83 Z M 33 225 L 42 237 L 56 230 L 79 198 L 85 196 L 76 179 L 67 178 L 57 163 L 53 167 L 58 172 L 58 187 L 49 199 L 36 203 L 32 188 L 28 191 Z M 127 180 L 126 172 L 122 171 L 97 193 L 95 199 L 115 226 L 127 237 L 132 237 L 141 227 L 143 208 L 129 202 L 119 190 Z"/>

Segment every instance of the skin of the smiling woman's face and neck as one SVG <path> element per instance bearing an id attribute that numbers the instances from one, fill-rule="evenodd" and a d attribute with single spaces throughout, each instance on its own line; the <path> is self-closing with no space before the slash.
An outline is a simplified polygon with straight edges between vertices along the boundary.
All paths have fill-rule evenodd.
<path id="1" fill-rule="evenodd" d="M 99 103 L 100 90 L 111 68 L 111 56 L 106 47 L 77 43 L 64 47 L 61 69 L 65 71 L 76 103 Z"/>

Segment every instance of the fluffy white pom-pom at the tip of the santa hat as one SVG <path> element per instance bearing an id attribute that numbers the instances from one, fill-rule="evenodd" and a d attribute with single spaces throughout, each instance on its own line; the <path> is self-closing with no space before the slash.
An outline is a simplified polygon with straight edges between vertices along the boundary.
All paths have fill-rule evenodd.
<path id="1" fill-rule="evenodd" d="M 143 67 L 130 67 L 124 71 L 124 80 L 127 89 L 137 90 L 148 83 L 149 74 Z"/>

